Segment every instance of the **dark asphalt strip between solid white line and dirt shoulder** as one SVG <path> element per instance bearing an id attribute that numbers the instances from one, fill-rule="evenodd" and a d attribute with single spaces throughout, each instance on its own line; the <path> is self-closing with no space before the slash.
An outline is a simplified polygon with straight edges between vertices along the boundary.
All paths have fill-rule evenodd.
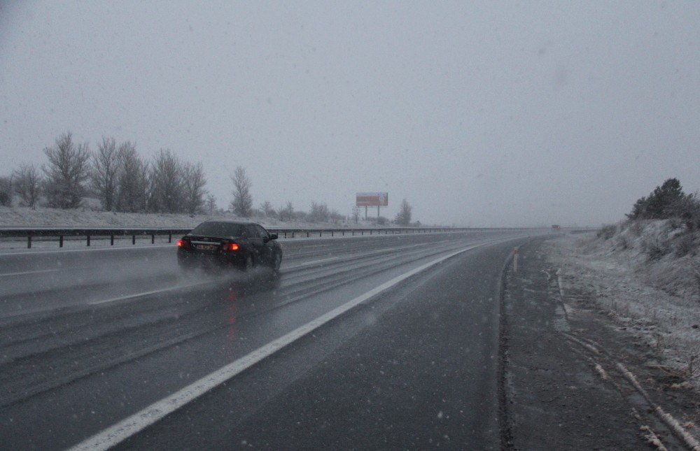
<path id="1" fill-rule="evenodd" d="M 494 296 L 510 244 L 426 271 L 120 448 L 500 448 Z"/>

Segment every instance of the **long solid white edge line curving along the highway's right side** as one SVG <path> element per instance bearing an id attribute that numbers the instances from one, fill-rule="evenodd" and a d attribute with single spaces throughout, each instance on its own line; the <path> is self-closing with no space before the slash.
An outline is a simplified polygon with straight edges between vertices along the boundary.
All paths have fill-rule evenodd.
<path id="1" fill-rule="evenodd" d="M 283 335 L 277 338 L 276 340 L 271 341 L 270 343 L 267 343 L 267 345 L 262 346 L 262 348 L 258 348 L 253 352 L 250 352 L 248 355 L 245 355 L 240 359 L 232 361 L 230 364 L 219 368 L 218 370 L 214 371 L 209 375 L 204 376 L 204 378 L 193 382 L 192 384 L 188 385 L 187 387 L 184 387 L 178 392 L 170 396 L 166 396 L 160 401 L 156 401 L 155 403 L 151 404 L 151 406 L 144 408 L 140 412 L 134 413 L 134 415 L 127 417 L 125 420 L 122 420 L 117 424 L 114 424 L 113 426 L 104 429 L 101 432 L 98 432 L 94 436 L 87 438 L 87 440 L 78 443 L 78 445 L 73 446 L 72 448 L 70 448 L 69 451 L 107 450 L 113 447 L 114 445 L 125 441 L 127 438 L 133 436 L 134 434 L 137 434 L 137 432 L 145 429 L 146 427 L 151 426 L 151 424 L 158 422 L 166 415 L 173 413 L 175 410 L 178 410 L 179 408 L 185 406 L 190 401 L 193 401 L 199 396 L 202 396 L 202 394 L 209 392 L 209 390 L 213 389 L 214 387 L 223 384 L 223 382 L 226 382 L 227 380 L 233 378 L 235 375 L 241 373 L 247 368 L 250 368 L 254 364 L 257 364 L 262 359 L 273 355 L 275 352 L 281 350 L 282 348 L 285 348 L 290 343 L 297 341 L 299 338 L 302 338 L 302 336 L 307 335 L 311 331 L 318 329 L 318 327 L 321 327 L 323 324 L 329 322 L 330 320 L 333 320 L 335 317 L 346 313 L 351 308 L 354 308 L 360 303 L 363 303 L 368 299 L 377 296 L 377 294 L 393 287 L 394 285 L 398 284 L 399 282 L 402 282 L 403 280 L 406 280 L 412 275 L 424 271 L 425 269 L 430 268 L 430 266 L 435 266 L 440 262 L 444 262 L 450 257 L 454 257 L 455 255 L 461 254 L 462 252 L 474 248 L 479 248 L 479 246 L 492 243 L 493 242 L 481 243 L 477 245 L 472 245 L 468 248 L 463 248 L 456 252 L 451 252 L 448 255 L 444 255 L 443 257 L 433 260 L 432 262 L 428 262 L 415 269 L 412 269 L 407 273 L 398 275 L 395 278 L 388 280 L 388 282 L 384 282 L 378 287 L 370 289 L 370 291 L 366 292 L 365 294 L 361 294 L 355 299 L 347 301 L 342 306 L 334 308 L 333 310 L 330 310 L 330 312 L 317 317 L 315 320 L 311 320 L 310 322 L 307 322 L 307 324 L 304 324 L 303 326 L 294 329 L 288 334 Z"/>

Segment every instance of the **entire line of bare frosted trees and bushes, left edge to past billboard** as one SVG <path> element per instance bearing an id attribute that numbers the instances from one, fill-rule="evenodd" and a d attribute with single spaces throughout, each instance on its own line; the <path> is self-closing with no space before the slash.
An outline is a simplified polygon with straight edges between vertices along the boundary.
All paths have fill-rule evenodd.
<path id="1" fill-rule="evenodd" d="M 83 197 L 92 195 L 105 211 L 125 213 L 214 213 L 216 198 L 206 189 L 202 163 L 181 160 L 169 149 L 144 159 L 131 141 L 117 143 L 103 137 L 95 150 L 88 143 L 76 143 L 66 132 L 55 144 L 44 148 L 46 162 L 22 164 L 10 177 L 0 177 L 0 205 L 10 206 L 17 194 L 24 206 L 34 208 L 41 196 L 52 208 L 77 208 Z M 233 200 L 229 209 L 239 217 L 264 217 L 281 221 L 358 222 L 330 210 L 325 203 L 311 202 L 308 212 L 297 211 L 291 202 L 275 209 L 269 201 L 253 206 L 251 180 L 242 166 L 231 176 Z M 219 210 L 221 211 L 221 210 Z M 386 218 L 381 218 L 388 222 Z M 411 206 L 404 201 L 395 224 L 409 225 Z"/>

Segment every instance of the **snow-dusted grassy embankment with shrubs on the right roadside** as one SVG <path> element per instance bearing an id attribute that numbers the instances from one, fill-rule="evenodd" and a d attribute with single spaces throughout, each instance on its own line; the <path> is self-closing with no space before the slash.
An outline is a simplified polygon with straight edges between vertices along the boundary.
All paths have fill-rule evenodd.
<path id="1" fill-rule="evenodd" d="M 700 387 L 700 233 L 675 220 L 630 221 L 549 243 L 550 260 L 666 366 Z M 649 364 L 654 364 L 650 361 Z"/>

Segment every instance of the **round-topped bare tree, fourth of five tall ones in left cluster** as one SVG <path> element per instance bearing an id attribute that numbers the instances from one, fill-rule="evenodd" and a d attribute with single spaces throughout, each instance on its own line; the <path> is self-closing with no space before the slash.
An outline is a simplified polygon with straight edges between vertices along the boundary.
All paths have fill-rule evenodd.
<path id="1" fill-rule="evenodd" d="M 148 209 L 159 213 L 179 213 L 183 206 L 183 167 L 169 149 L 161 149 L 151 164 L 151 196 Z"/>

